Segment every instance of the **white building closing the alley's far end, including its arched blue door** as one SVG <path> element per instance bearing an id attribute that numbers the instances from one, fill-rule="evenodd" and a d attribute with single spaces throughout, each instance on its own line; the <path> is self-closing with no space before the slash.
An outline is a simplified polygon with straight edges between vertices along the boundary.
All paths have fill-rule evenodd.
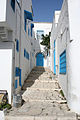
<path id="1" fill-rule="evenodd" d="M 42 42 L 42 34 L 49 35 L 51 32 L 52 23 L 46 22 L 34 22 L 34 31 L 37 45 L 35 46 L 36 50 L 36 66 L 44 66 L 49 67 L 49 57 L 45 52 L 45 46 L 41 45 Z"/>

